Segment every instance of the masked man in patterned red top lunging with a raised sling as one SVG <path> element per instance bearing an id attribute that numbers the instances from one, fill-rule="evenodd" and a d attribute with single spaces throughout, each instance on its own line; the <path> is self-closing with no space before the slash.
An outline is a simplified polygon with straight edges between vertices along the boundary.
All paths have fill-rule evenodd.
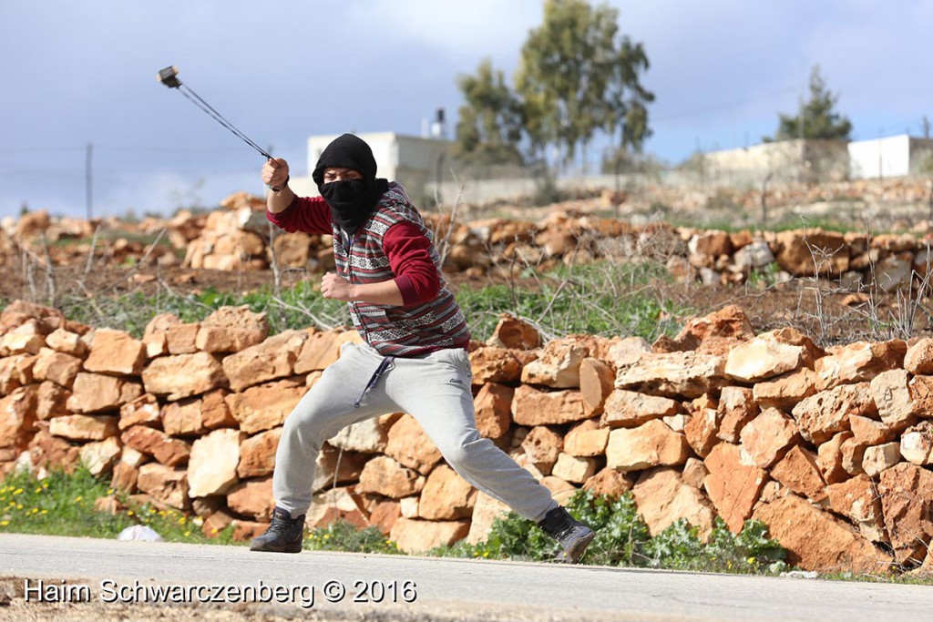
<path id="1" fill-rule="evenodd" d="M 421 214 L 403 187 L 377 179 L 369 145 L 353 134 L 327 145 L 313 172 L 320 197 L 289 189 L 284 159 L 267 161 L 262 179 L 271 190 L 273 224 L 333 236 L 337 273 L 324 276 L 321 293 L 350 305 L 365 344 L 345 345 L 285 420 L 275 453 L 272 523 L 250 548 L 298 553 L 321 446 L 347 425 L 402 411 L 460 477 L 536 521 L 560 543 L 563 560 L 578 561 L 592 530 L 477 431 L 464 314 L 440 275 Z"/>

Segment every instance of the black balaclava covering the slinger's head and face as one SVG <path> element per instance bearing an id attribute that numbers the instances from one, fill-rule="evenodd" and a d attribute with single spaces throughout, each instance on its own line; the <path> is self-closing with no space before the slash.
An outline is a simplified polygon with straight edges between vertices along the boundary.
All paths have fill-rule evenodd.
<path id="1" fill-rule="evenodd" d="M 353 169 L 363 178 L 325 184 L 324 171 L 327 168 Z M 388 189 L 386 180 L 376 179 L 376 159 L 372 157 L 372 149 L 354 134 L 343 134 L 327 145 L 311 176 L 330 206 L 334 219 L 347 233 L 355 232 L 367 221 Z"/>

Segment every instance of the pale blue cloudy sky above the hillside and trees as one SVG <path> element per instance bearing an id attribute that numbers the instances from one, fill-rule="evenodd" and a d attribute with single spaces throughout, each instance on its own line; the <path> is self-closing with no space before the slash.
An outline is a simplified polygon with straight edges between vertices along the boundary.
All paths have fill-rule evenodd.
<path id="1" fill-rule="evenodd" d="M 595 4 L 595 3 L 594 3 Z M 754 145 L 819 64 L 856 139 L 933 117 L 933 0 L 610 0 L 644 44 L 654 136 L 678 162 Z M 309 135 L 418 135 L 483 58 L 510 76 L 542 0 L 0 0 L 0 216 L 171 213 L 261 193 L 262 157 L 156 81 L 179 77 L 307 170 Z M 453 133 L 453 125 L 449 130 Z"/>

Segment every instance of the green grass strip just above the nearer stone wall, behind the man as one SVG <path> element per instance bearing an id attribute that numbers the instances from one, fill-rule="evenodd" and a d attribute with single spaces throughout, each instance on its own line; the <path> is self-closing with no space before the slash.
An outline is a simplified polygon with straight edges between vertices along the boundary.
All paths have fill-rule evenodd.
<path id="1" fill-rule="evenodd" d="M 529 282 L 530 275 L 523 283 Z M 692 311 L 664 299 L 652 285 L 670 281 L 661 264 L 604 261 L 573 269 L 562 267 L 535 278 L 531 286 L 513 283 L 459 288 L 456 298 L 474 339 L 488 339 L 499 314 L 509 312 L 535 322 L 549 338 L 586 333 L 653 340 L 676 333 L 681 318 Z M 220 307 L 241 305 L 265 312 L 272 334 L 315 325 L 351 325 L 347 305 L 322 297 L 309 281 L 283 289 L 278 296 L 271 287 L 245 294 L 210 288 L 189 296 L 136 292 L 96 297 L 93 304 L 86 297 L 75 297 L 61 301 L 58 307 L 65 317 L 77 322 L 117 328 L 141 338 L 146 324 L 159 313 L 174 313 L 183 322 L 193 323 Z"/>

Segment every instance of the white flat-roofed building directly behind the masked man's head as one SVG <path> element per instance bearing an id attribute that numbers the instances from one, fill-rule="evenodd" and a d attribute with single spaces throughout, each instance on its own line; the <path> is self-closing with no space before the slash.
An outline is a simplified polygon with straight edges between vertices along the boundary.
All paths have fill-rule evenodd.
<path id="1" fill-rule="evenodd" d="M 311 136 L 308 139 L 308 175 L 292 175 L 289 183 L 296 193 L 309 197 L 317 195 L 311 173 L 325 147 L 339 135 Z M 444 160 L 453 148 L 453 142 L 443 138 L 407 136 L 394 131 L 356 135 L 372 147 L 379 177 L 400 183 L 419 206 L 425 205 L 425 200 L 434 202 L 433 192 L 425 194 L 426 187 L 443 175 Z"/>

